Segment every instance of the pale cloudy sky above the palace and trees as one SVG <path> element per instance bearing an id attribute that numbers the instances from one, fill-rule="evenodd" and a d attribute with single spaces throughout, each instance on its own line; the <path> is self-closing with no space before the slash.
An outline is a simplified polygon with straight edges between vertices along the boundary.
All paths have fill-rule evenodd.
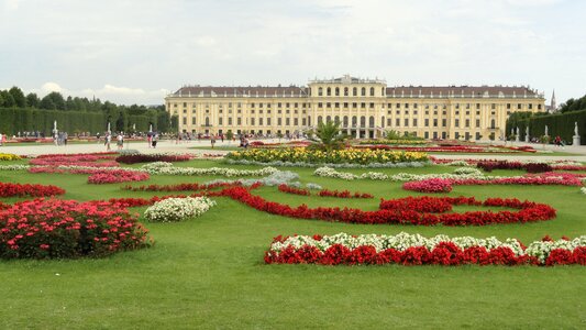
<path id="1" fill-rule="evenodd" d="M 0 0 L 0 89 L 161 105 L 185 85 L 523 85 L 586 95 L 582 0 Z"/>

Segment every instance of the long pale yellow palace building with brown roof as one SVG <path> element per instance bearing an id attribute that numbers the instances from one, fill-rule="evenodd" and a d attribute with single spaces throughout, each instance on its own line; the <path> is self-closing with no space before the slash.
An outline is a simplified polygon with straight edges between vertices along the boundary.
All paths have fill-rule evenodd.
<path id="1" fill-rule="evenodd" d="M 495 140 L 516 111 L 545 111 L 543 94 L 529 87 L 401 86 L 345 75 L 308 86 L 186 86 L 165 98 L 180 132 L 295 134 L 338 121 L 349 135 L 385 131 L 425 139 Z"/>

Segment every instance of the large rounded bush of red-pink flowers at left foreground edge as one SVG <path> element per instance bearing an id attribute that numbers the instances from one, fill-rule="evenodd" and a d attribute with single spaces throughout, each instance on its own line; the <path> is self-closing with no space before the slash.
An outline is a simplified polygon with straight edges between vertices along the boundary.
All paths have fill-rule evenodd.
<path id="1" fill-rule="evenodd" d="M 120 206 L 35 199 L 0 211 L 0 257 L 98 257 L 148 246 L 146 233 Z"/>

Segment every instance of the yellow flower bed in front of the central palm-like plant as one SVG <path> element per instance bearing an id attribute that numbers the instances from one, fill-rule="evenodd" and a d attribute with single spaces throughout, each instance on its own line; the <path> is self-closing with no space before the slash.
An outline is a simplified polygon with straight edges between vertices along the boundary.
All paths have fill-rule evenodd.
<path id="1" fill-rule="evenodd" d="M 310 150 L 305 147 L 290 148 L 252 148 L 231 152 L 226 156 L 233 161 L 268 162 L 296 162 L 311 164 L 369 164 L 369 163 L 403 163 L 424 162 L 428 155 L 423 153 L 371 151 L 346 148 L 331 152 Z"/>

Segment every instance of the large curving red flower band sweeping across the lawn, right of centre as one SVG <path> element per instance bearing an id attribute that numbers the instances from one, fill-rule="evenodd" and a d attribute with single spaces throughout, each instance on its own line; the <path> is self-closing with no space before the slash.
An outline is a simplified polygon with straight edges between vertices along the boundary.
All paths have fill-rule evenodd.
<path id="1" fill-rule="evenodd" d="M 261 211 L 300 219 L 317 219 L 350 223 L 396 223 L 396 224 L 444 224 L 444 226 L 485 226 L 493 223 L 516 223 L 542 221 L 555 218 L 555 209 L 548 205 L 518 199 L 489 198 L 482 202 L 486 207 L 508 207 L 519 211 L 468 211 L 464 213 L 430 213 L 429 211 L 449 210 L 446 205 L 473 205 L 480 201 L 473 197 L 408 197 L 394 200 L 383 200 L 377 211 L 363 211 L 350 208 L 310 209 L 306 205 L 290 207 L 276 201 L 268 201 L 252 195 L 246 188 L 234 187 L 221 191 Z"/>

